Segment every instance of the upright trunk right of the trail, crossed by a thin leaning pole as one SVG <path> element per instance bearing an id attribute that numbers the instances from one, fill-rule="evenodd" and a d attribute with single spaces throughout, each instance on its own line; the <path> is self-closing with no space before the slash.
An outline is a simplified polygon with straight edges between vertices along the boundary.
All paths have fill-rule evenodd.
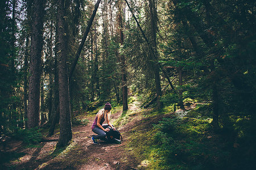
<path id="1" fill-rule="evenodd" d="M 160 96 L 162 96 L 161 84 L 160 84 L 160 75 L 159 75 L 159 65 L 158 65 L 158 52 L 156 47 L 156 8 L 155 1 L 149 0 L 150 6 L 150 22 L 151 22 L 151 41 L 152 41 L 152 49 L 154 50 L 155 55 L 151 52 L 150 60 L 153 60 L 153 68 L 155 74 L 155 86 L 156 86 L 156 96 L 157 96 L 157 104 L 158 109 L 163 107 L 163 103 L 160 101 Z"/>

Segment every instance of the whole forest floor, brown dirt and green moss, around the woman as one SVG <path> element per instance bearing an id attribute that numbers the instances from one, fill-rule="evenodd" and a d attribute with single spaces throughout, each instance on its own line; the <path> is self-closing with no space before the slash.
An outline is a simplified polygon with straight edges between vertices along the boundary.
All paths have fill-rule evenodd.
<path id="1" fill-rule="evenodd" d="M 9 169 L 241 169 L 251 166 L 250 157 L 244 152 L 240 138 L 232 143 L 224 135 L 216 133 L 205 116 L 208 104 L 187 99 L 193 108 L 182 111 L 174 104 L 162 110 L 139 108 L 135 97 L 129 98 L 129 110 L 122 112 L 121 105 L 112 110 L 112 122 L 121 131 L 121 145 L 100 143 L 93 145 L 90 129 L 99 107 L 95 111 L 81 113 L 73 123 L 73 141 L 68 147 L 55 148 L 57 142 L 19 145 L 16 152 L 10 152 L 12 161 L 5 162 Z M 185 103 L 184 102 L 184 103 Z M 195 104 L 196 103 L 196 104 Z M 234 119 L 239 125 L 246 117 Z M 42 133 L 46 133 L 42 130 Z M 34 133 L 33 133 L 34 134 Z M 55 137 L 59 135 L 56 129 Z M 243 138 L 242 138 L 243 137 Z M 24 147 L 26 146 L 26 147 Z M 249 146 L 249 144 L 247 145 Z M 251 147 L 254 148 L 254 147 Z M 241 155 L 239 155 L 242 153 Z M 2 162 L 3 163 L 3 162 Z"/>

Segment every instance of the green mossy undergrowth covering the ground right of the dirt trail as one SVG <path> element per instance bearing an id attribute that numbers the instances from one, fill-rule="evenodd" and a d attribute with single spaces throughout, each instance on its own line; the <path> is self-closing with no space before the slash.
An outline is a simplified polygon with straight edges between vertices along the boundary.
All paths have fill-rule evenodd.
<path id="1" fill-rule="evenodd" d="M 243 158 L 240 144 L 230 143 L 222 134 L 216 133 L 210 124 L 212 119 L 195 117 L 195 111 L 191 112 L 193 118 L 170 115 L 152 127 L 143 122 L 143 125 L 139 124 L 130 131 L 127 150 L 141 162 L 139 169 L 253 167 L 249 160 L 254 158 Z M 151 116 L 158 117 L 154 114 Z M 242 155 L 246 155 L 245 151 Z"/>

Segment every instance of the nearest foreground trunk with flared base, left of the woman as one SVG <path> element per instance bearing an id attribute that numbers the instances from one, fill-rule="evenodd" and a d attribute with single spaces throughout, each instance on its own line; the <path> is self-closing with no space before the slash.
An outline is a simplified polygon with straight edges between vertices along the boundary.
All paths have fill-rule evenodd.
<path id="1" fill-rule="evenodd" d="M 69 2 L 66 0 L 58 1 L 58 39 L 59 39 L 59 97 L 60 97 L 60 137 L 58 147 L 68 145 L 72 140 L 71 111 L 69 103 L 69 83 L 68 83 L 68 31 L 66 11 Z"/>

